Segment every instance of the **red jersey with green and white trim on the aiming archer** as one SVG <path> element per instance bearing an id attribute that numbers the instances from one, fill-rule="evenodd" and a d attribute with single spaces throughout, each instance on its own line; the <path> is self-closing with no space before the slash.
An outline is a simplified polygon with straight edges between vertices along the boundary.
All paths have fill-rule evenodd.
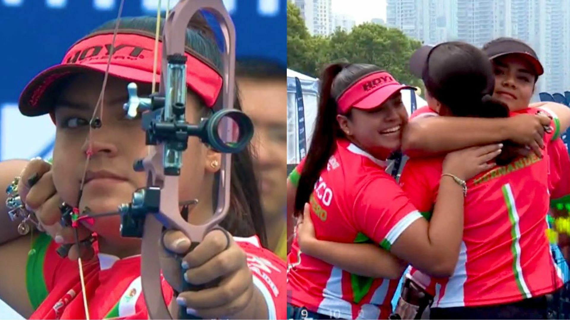
<path id="1" fill-rule="evenodd" d="M 263 294 L 270 319 L 284 319 L 285 266 L 263 249 L 256 236 L 234 237 L 247 254 L 255 286 Z M 34 242 L 27 261 L 26 286 L 35 311 L 30 319 L 85 319 L 78 262 L 56 253 L 58 244 L 46 233 Z M 95 245 L 95 248 L 97 246 Z M 91 319 L 148 319 L 141 287 L 140 255 L 119 259 L 97 254 L 83 264 L 87 305 Z M 173 290 L 162 278 L 162 294 L 168 305 Z"/>

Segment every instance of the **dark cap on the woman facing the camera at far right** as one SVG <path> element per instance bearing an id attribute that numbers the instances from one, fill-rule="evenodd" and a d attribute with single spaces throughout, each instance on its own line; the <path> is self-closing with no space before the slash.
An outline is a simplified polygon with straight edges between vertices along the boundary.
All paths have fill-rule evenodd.
<path id="1" fill-rule="evenodd" d="M 544 68 L 536 55 L 536 52 L 532 50 L 528 44 L 514 39 L 514 38 L 499 38 L 492 40 L 491 42 L 485 44 L 483 51 L 487 54 L 489 59 L 495 59 L 504 55 L 518 54 L 523 56 L 534 68 L 536 76 L 540 76 L 544 73 Z"/>

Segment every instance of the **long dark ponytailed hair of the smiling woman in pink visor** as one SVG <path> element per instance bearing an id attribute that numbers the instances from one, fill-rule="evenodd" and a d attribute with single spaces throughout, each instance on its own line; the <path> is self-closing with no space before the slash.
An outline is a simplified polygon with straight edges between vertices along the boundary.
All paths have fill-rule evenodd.
<path id="1" fill-rule="evenodd" d="M 311 139 L 311 147 L 305 157 L 303 170 L 295 194 L 295 213 L 303 211 L 305 203 L 314 189 L 321 170 L 327 165 L 328 159 L 336 150 L 335 141 L 344 137 L 339 123 L 336 121 L 337 104 L 341 93 L 361 77 L 370 72 L 381 71 L 373 64 L 335 63 L 328 65 L 322 75 L 319 92 L 319 110 L 315 120 L 315 129 Z M 350 111 L 345 114 L 350 117 Z"/>

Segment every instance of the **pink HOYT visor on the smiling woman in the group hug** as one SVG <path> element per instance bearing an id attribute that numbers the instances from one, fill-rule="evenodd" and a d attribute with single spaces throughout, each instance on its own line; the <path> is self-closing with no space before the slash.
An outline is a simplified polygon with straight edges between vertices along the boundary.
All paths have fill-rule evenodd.
<path id="1" fill-rule="evenodd" d="M 339 113 L 347 113 L 351 108 L 369 110 L 378 108 L 390 96 L 401 89 L 416 89 L 402 85 L 386 71 L 369 73 L 341 93 L 337 99 Z"/>

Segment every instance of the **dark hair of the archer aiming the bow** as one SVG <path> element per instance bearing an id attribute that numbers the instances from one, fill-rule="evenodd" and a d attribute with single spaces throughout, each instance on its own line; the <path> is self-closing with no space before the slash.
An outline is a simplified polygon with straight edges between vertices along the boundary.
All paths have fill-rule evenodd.
<path id="1" fill-rule="evenodd" d="M 154 34 L 157 19 L 154 17 L 132 17 L 121 18 L 119 30 L 139 30 Z M 92 32 L 115 30 L 116 20 L 108 21 L 96 28 Z M 164 19 L 161 19 L 160 31 L 164 26 Z M 207 59 L 211 64 L 222 69 L 221 51 L 215 44 L 214 34 L 207 25 L 201 14 L 196 14 L 189 23 L 186 30 L 186 46 L 191 47 L 202 58 Z M 189 92 L 191 92 L 189 90 Z M 236 91 L 237 92 L 237 91 Z M 203 100 L 196 94 L 194 98 L 199 102 L 198 112 L 202 115 L 211 114 L 211 109 L 207 108 Z M 214 110 L 221 108 L 221 99 L 218 99 Z M 241 110 L 241 101 L 236 94 L 234 108 Z M 216 181 L 219 174 L 216 175 Z M 214 199 L 217 197 L 217 187 L 214 185 Z M 234 236 L 258 235 L 263 247 L 267 247 L 267 235 L 263 221 L 263 211 L 260 202 L 257 178 L 253 169 L 253 157 L 250 147 L 231 157 L 231 185 L 230 185 L 230 211 L 226 219 L 221 223 Z"/>

